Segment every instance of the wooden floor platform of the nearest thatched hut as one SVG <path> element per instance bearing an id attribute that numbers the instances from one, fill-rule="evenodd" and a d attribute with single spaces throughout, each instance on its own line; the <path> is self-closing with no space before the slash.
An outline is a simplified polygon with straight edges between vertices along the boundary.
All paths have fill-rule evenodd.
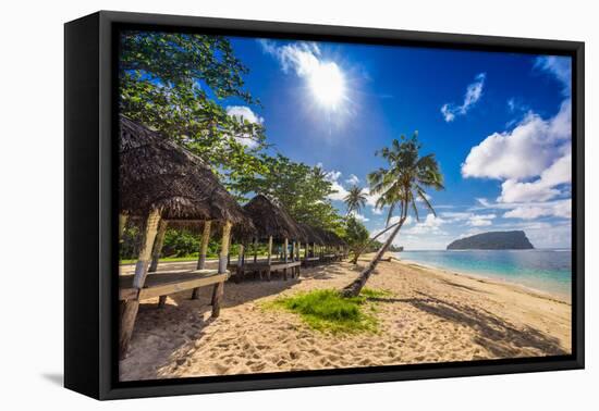
<path id="1" fill-rule="evenodd" d="M 144 288 L 139 290 L 139 300 L 168 296 L 198 287 L 225 282 L 229 273 L 219 274 L 217 270 L 174 271 L 148 274 Z M 133 288 L 133 275 L 119 276 L 119 299 L 129 300 L 137 297 Z"/>

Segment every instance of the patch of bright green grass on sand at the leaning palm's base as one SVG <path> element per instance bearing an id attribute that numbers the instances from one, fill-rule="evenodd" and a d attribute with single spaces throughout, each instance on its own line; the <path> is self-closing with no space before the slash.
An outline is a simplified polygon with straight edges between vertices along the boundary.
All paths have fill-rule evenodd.
<path id="1" fill-rule="evenodd" d="M 265 308 L 282 308 L 296 313 L 308 326 L 321 332 L 376 332 L 377 320 L 370 314 L 376 312 L 376 308 L 368 299 L 389 295 L 391 292 L 387 290 L 365 288 L 358 297 L 343 298 L 337 290 L 321 289 L 281 297 L 267 303 Z"/>

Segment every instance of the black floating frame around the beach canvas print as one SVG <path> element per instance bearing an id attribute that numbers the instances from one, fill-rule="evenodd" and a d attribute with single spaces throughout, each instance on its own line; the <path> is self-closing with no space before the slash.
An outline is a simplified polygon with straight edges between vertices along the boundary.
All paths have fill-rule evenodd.
<path id="1" fill-rule="evenodd" d="M 570 55 L 573 287 L 570 356 L 119 382 L 115 50 L 123 27 Z M 100 11 L 66 23 L 64 385 L 97 399 L 376 383 L 584 368 L 584 42 Z"/>

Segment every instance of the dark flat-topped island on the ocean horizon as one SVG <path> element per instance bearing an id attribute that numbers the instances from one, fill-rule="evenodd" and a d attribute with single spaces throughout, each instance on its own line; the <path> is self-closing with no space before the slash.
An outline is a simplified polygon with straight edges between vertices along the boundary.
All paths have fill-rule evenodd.
<path id="1" fill-rule="evenodd" d="M 448 250 L 529 250 L 535 248 L 524 232 L 489 232 L 460 238 Z"/>

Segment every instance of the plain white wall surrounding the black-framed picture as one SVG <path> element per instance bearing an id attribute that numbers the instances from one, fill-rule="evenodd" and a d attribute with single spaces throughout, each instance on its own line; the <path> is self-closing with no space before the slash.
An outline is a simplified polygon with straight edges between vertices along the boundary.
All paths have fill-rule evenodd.
<path id="1" fill-rule="evenodd" d="M 59 406 L 65 409 L 147 410 L 210 408 L 309 410 L 335 409 L 460 409 L 563 410 L 594 401 L 599 360 L 592 350 L 598 340 L 590 323 L 599 312 L 599 265 L 592 250 L 599 247 L 592 232 L 597 216 L 587 213 L 587 370 L 522 375 L 499 375 L 404 382 L 378 385 L 307 388 L 228 395 L 162 398 L 111 403 L 93 402 L 60 388 L 62 373 L 62 198 L 63 198 L 63 42 L 62 23 L 99 9 L 143 11 L 220 17 L 293 21 L 388 28 L 407 28 L 480 35 L 523 36 L 584 40 L 587 42 L 586 112 L 597 112 L 599 32 L 591 2 L 504 0 L 480 7 L 476 1 L 240 1 L 163 2 L 87 1 L 47 3 L 23 1 L 2 5 L 3 79 L 2 188 L 11 201 L 1 207 L 4 221 L 1 245 L 4 281 L 3 403 L 9 409 Z M 7 63 L 8 61 L 8 63 Z M 599 155 L 594 140 L 595 121 L 587 115 L 587 175 L 599 173 L 591 159 Z M 587 209 L 598 203 L 597 189 L 587 186 Z M 8 229 L 7 229 L 8 228 Z M 33 238 L 33 239 L 32 239 Z M 34 267 L 35 270 L 30 270 Z M 9 275 L 10 273 L 10 275 Z M 91 372 L 91 371 L 90 371 Z M 167 402 L 168 401 L 168 402 Z"/>

